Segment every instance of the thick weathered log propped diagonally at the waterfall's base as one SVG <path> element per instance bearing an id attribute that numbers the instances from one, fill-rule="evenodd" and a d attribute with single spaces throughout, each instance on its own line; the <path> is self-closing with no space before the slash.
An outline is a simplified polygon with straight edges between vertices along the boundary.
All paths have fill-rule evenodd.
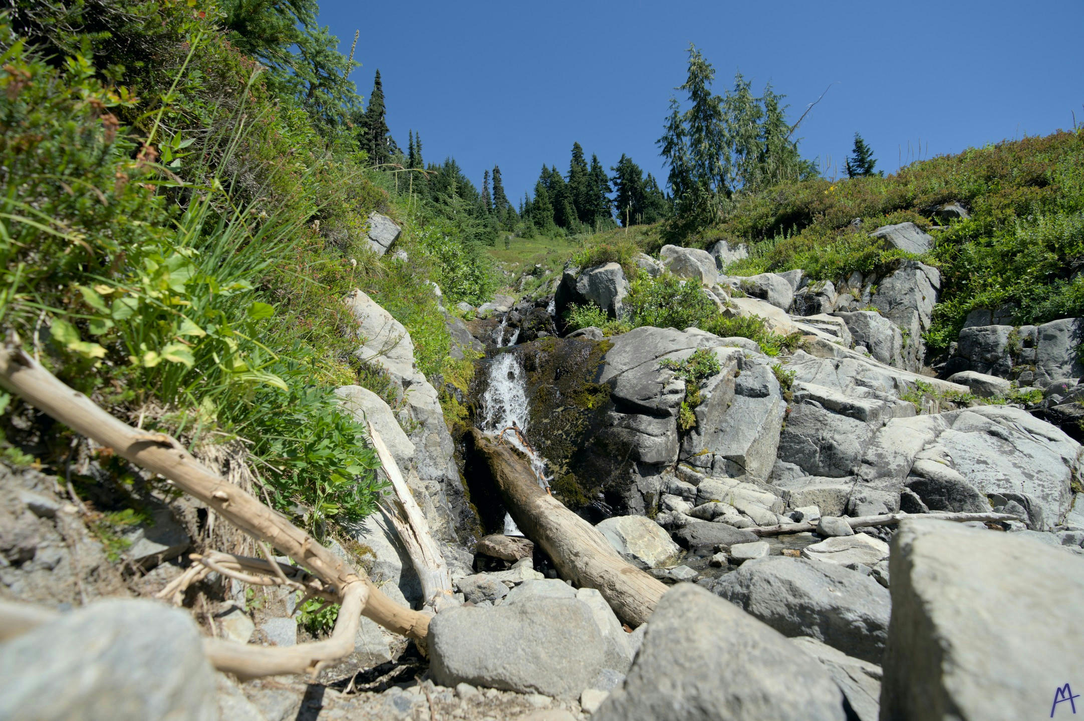
<path id="1" fill-rule="evenodd" d="M 598 589 L 618 618 L 638 626 L 655 610 L 667 587 L 625 562 L 594 526 L 547 494 L 519 451 L 467 434 L 470 452 L 485 461 L 519 529 L 553 559 L 562 578 Z"/>

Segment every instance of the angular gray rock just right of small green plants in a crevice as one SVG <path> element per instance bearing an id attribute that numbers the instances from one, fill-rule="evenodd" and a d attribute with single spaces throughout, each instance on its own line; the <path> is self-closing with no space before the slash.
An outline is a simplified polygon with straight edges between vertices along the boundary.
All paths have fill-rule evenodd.
<path id="1" fill-rule="evenodd" d="M 766 361 L 739 357 L 738 365 L 737 378 L 720 374 L 701 390 L 696 427 L 682 440 L 681 458 L 710 475 L 765 480 L 786 402 Z"/>

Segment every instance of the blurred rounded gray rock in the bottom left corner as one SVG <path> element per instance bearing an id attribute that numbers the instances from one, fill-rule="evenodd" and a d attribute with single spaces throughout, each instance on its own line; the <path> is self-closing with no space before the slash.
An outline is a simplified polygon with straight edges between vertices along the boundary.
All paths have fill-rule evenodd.
<path id="1" fill-rule="evenodd" d="M 151 601 L 101 601 L 5 642 L 0 679 L 4 719 L 216 718 L 198 628 L 188 613 Z"/>

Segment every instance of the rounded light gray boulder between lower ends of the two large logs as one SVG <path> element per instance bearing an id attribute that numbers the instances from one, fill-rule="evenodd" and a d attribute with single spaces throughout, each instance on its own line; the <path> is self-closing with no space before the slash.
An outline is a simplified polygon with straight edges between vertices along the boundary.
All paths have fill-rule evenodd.
<path id="1" fill-rule="evenodd" d="M 444 686 L 576 698 L 604 668 L 598 625 L 576 598 L 450 608 L 429 623 L 428 642 L 430 671 Z"/>

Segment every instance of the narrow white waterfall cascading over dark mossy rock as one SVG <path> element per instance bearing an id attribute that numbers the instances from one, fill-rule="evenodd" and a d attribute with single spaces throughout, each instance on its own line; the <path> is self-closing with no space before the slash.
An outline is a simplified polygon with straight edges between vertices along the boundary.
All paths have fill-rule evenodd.
<path id="1" fill-rule="evenodd" d="M 504 318 L 501 325 L 493 332 L 493 338 L 501 348 L 515 345 L 519 337 L 519 330 L 516 329 L 505 343 L 504 335 L 507 332 L 507 318 Z M 496 435 L 505 428 L 516 426 L 526 436 L 528 423 L 527 376 L 516 353 L 500 353 L 490 363 L 489 384 L 482 395 L 481 402 L 483 409 L 481 429 L 485 433 Z M 546 488 L 550 476 L 546 473 L 545 460 L 524 443 L 514 430 L 506 432 L 503 438 L 505 442 L 515 446 L 530 459 L 531 469 L 540 478 L 539 485 Z M 504 515 L 504 535 L 522 536 L 508 514 Z"/>

